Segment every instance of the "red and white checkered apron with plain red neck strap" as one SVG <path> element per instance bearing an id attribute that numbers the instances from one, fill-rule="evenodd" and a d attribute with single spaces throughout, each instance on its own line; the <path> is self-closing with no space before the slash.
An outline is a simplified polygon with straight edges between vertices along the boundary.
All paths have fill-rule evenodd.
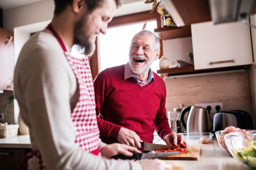
<path id="1" fill-rule="evenodd" d="M 87 152 L 100 155 L 99 127 L 97 125 L 93 79 L 88 58 L 77 59 L 72 57 L 51 24 L 47 28 L 58 39 L 79 84 L 79 99 L 71 113 L 76 129 L 75 142 Z"/>

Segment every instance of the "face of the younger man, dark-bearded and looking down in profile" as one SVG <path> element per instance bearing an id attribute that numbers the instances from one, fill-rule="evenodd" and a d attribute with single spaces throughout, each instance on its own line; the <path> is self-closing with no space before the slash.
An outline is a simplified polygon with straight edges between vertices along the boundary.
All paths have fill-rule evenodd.
<path id="1" fill-rule="evenodd" d="M 84 48 L 84 54 L 92 55 L 95 50 L 95 38 L 100 32 L 106 34 L 108 22 L 116 11 L 114 0 L 104 0 L 102 5 L 88 15 L 84 12 L 74 27 L 74 44 Z"/>

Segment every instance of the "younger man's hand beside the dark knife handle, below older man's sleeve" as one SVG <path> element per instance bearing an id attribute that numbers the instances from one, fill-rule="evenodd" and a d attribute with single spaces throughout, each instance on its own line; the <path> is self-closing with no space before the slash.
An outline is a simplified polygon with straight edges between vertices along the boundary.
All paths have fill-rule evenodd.
<path id="1" fill-rule="evenodd" d="M 128 146 L 120 143 L 113 143 L 113 144 L 103 146 L 100 149 L 100 153 L 102 157 L 106 157 L 110 159 L 112 156 L 117 154 L 123 154 L 127 157 L 131 157 L 132 153 L 141 153 L 141 152 L 140 150 L 132 146 Z"/>

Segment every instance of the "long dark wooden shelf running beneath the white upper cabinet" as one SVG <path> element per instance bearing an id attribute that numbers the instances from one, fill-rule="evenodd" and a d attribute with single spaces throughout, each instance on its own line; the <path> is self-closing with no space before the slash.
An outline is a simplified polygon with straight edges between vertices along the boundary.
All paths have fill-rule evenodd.
<path id="1" fill-rule="evenodd" d="M 216 71 L 231 71 L 236 69 L 249 69 L 251 64 L 243 65 L 243 66 L 232 66 L 232 67 L 219 67 L 212 69 L 194 69 L 194 66 L 186 66 L 186 67 L 175 67 L 170 69 L 159 69 L 157 73 L 168 73 L 168 76 L 177 76 L 184 74 L 199 74 L 199 73 L 211 73 Z"/>

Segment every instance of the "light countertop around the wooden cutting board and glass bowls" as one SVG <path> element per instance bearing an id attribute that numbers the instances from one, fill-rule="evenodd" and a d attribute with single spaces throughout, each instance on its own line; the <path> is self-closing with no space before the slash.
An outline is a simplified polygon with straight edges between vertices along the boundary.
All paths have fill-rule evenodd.
<path id="1" fill-rule="evenodd" d="M 172 166 L 184 167 L 185 170 L 250 170 L 239 160 L 224 152 L 216 138 L 212 143 L 202 144 L 200 160 L 165 160 Z"/>

